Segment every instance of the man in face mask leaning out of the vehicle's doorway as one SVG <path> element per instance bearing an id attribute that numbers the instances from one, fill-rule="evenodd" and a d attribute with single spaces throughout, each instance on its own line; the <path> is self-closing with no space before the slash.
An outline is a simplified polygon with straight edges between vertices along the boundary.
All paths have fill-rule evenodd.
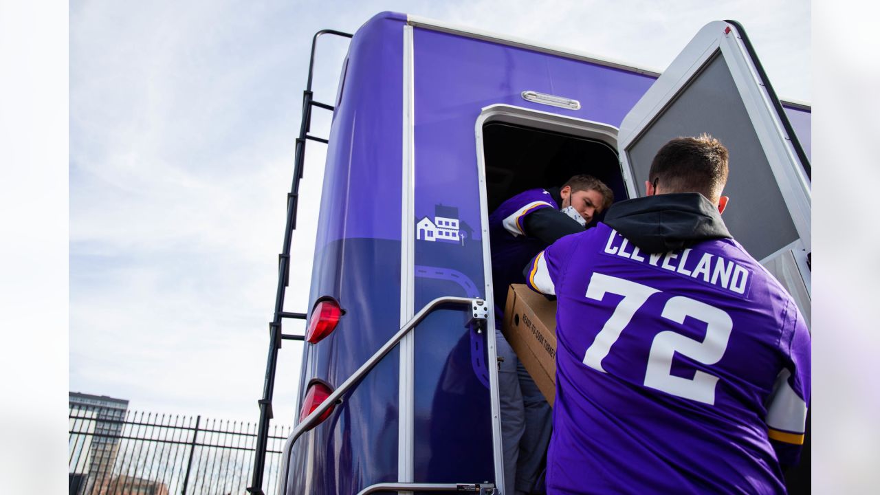
<path id="1" fill-rule="evenodd" d="M 508 493 L 530 493 L 541 474 L 550 441 L 551 409 L 500 331 L 510 284 L 523 284 L 524 263 L 569 233 L 579 233 L 611 205 L 610 188 L 590 175 L 575 175 L 561 188 L 529 189 L 489 215 L 492 280 L 495 287 L 495 342 L 501 361 L 504 486 Z"/>

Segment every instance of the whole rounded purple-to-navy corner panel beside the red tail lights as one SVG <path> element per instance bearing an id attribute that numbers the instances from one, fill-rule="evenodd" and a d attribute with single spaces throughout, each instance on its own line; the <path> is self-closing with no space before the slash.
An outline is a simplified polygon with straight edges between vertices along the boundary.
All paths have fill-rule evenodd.
<path id="1" fill-rule="evenodd" d="M 400 328 L 405 21 L 400 14 L 378 14 L 348 50 L 327 149 L 309 299 L 313 305 L 333 296 L 347 313 L 332 335 L 304 345 L 300 404 L 309 380 L 339 386 Z M 399 360 L 392 351 L 297 442 L 288 494 L 356 493 L 397 480 Z"/>

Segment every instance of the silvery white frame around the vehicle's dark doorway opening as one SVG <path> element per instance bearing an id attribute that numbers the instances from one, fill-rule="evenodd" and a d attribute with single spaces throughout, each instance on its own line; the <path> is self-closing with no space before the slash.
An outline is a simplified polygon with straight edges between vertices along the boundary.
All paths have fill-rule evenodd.
<path id="1" fill-rule="evenodd" d="M 488 122 L 508 122 L 528 126 L 532 129 L 552 130 L 566 134 L 598 139 L 617 149 L 618 129 L 612 125 L 593 122 L 576 117 L 541 112 L 530 108 L 495 104 L 483 107 L 474 124 L 477 151 L 477 176 L 480 182 L 480 231 L 483 239 L 483 278 L 486 281 L 486 302 L 489 317 L 486 332 L 486 347 L 489 369 L 489 395 L 492 402 L 492 443 L 495 461 L 495 486 L 501 493 L 508 493 L 504 487 L 504 466 L 501 434 L 501 406 L 498 397 L 498 358 L 495 349 L 495 298 L 492 284 L 492 253 L 489 246 L 489 213 L 486 192 L 486 156 L 483 152 L 483 125 Z M 621 167 L 621 171 L 623 171 Z M 631 179 L 624 176 L 627 184 Z"/>

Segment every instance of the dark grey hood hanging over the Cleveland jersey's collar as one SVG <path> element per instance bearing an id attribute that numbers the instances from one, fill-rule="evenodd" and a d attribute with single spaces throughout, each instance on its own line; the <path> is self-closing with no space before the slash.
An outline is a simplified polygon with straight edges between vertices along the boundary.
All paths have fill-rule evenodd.
<path id="1" fill-rule="evenodd" d="M 718 207 L 700 193 L 645 196 L 612 204 L 605 225 L 645 253 L 665 253 L 703 240 L 731 239 Z"/>

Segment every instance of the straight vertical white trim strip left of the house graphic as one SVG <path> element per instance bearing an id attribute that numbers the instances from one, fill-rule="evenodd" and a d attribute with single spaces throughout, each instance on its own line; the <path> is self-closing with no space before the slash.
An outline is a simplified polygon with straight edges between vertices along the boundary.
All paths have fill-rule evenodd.
<path id="1" fill-rule="evenodd" d="M 413 26 L 403 26 L 403 150 L 400 182 L 400 326 L 414 315 L 415 280 L 415 99 Z M 413 483 L 414 478 L 414 355 L 412 332 L 400 340 L 398 390 L 397 481 Z M 400 493 L 412 493 L 400 491 Z"/>

